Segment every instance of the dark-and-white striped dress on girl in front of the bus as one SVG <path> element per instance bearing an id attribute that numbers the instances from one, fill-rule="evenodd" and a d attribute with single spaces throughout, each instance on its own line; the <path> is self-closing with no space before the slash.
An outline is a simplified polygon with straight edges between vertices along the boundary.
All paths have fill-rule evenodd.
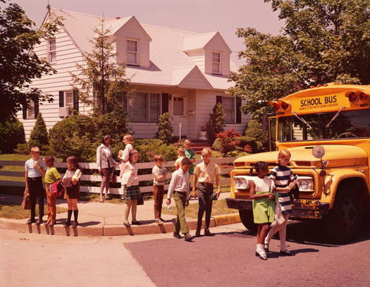
<path id="1" fill-rule="evenodd" d="M 275 166 L 270 173 L 270 178 L 277 188 L 286 188 L 293 177 L 292 170 L 287 166 L 280 166 L 280 164 Z M 289 193 L 278 193 L 278 201 L 283 214 L 292 213 L 292 202 Z"/>

